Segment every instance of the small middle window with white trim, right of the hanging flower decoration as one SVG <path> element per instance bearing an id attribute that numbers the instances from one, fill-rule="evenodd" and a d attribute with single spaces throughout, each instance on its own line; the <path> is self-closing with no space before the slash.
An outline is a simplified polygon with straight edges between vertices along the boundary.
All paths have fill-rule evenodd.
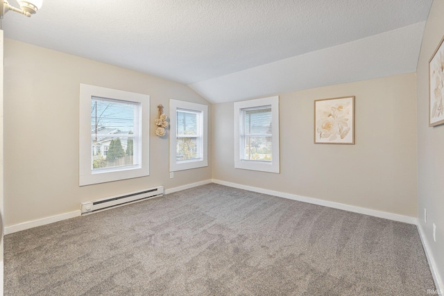
<path id="1" fill-rule="evenodd" d="M 208 166 L 208 106 L 170 100 L 170 171 Z"/>

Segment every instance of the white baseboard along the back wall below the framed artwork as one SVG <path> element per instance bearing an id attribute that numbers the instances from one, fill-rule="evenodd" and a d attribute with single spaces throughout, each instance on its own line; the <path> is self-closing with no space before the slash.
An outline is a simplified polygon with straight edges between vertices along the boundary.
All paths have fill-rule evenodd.
<path id="1" fill-rule="evenodd" d="M 356 206 L 351 206 L 348 204 L 341 204 L 339 202 L 329 202 L 327 200 L 318 200 L 317 198 L 307 198 L 305 196 L 295 195 L 295 194 L 291 194 L 291 193 L 284 193 L 284 192 L 280 192 L 280 191 L 262 189 L 262 188 L 258 188 L 258 187 L 246 186 L 246 185 L 242 185 L 242 184 L 225 182 L 225 181 L 221 181 L 221 180 L 214 180 L 213 179 L 212 181 L 213 181 L 213 183 L 216 183 L 216 184 L 230 186 L 230 187 L 234 187 L 237 189 L 244 189 L 244 190 L 253 191 L 253 192 L 257 192 L 257 193 L 274 195 L 274 196 L 278 196 L 280 198 L 287 198 L 289 200 L 298 200 L 300 202 L 308 202 L 310 204 L 318 204 L 318 205 L 321 205 L 324 207 L 331 207 L 334 209 L 342 209 L 344 211 L 352 211 L 352 212 L 359 213 L 359 214 L 364 214 L 364 215 L 368 215 L 368 216 L 375 216 L 375 217 L 379 217 L 379 218 L 399 221 L 399 222 L 403 222 L 403 223 L 409 223 L 409 224 L 413 224 L 413 225 L 417 225 L 417 223 L 418 223 L 418 220 L 414 217 L 402 216 L 399 214 L 388 213 L 385 211 L 366 209 L 363 207 L 356 207 Z"/>

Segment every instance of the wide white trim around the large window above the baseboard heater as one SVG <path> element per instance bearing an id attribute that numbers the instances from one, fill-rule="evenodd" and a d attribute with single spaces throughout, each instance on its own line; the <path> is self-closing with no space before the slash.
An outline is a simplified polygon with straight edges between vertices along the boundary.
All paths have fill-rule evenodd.
<path id="1" fill-rule="evenodd" d="M 139 116 L 141 146 L 139 165 L 114 168 L 104 171 L 92 171 L 91 153 L 91 98 L 111 98 L 120 101 L 140 103 Z M 136 94 L 106 87 L 80 84 L 80 123 L 79 123 L 79 185 L 99 184 L 117 180 L 131 179 L 149 175 L 149 123 L 150 123 L 150 96 Z M 136 150 L 136 149 L 135 149 Z"/>

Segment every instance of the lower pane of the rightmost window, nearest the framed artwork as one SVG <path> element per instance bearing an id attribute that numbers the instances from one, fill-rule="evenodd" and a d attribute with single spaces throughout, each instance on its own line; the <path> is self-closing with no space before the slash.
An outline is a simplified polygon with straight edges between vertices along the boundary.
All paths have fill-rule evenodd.
<path id="1" fill-rule="evenodd" d="M 246 136 L 244 141 L 244 150 L 246 160 L 260 160 L 262 162 L 271 162 L 271 137 L 264 136 Z"/>

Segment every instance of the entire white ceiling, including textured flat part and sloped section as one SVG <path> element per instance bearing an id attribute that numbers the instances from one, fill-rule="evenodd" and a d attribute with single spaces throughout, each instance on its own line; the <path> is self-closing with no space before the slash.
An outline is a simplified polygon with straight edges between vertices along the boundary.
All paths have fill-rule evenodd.
<path id="1" fill-rule="evenodd" d="M 182 82 L 220 103 L 415 71 L 431 4 L 44 0 L 31 19 L 8 12 L 1 23 L 7 38 Z"/>

